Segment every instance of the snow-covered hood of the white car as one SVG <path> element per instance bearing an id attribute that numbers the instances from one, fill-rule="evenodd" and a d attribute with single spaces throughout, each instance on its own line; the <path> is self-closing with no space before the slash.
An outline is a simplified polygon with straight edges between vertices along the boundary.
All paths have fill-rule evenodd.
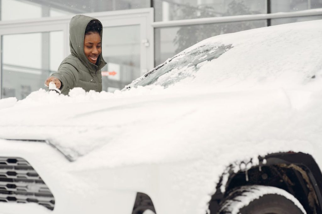
<path id="1" fill-rule="evenodd" d="M 54 93 L 36 94 L 37 99 L 43 94 L 43 99 L 59 100 Z M 306 107 L 311 96 L 311 92 L 278 89 L 105 100 L 78 97 L 78 102 L 62 101 L 72 97 L 61 95 L 61 104 L 34 100 L 27 104 L 26 99 L 0 110 L 0 138 L 48 140 L 72 159 L 90 153 L 110 154 L 118 161 L 123 156 L 122 163 L 147 157 L 150 161 L 180 159 L 193 157 L 203 144 L 220 148 L 225 138 L 245 135 L 245 128 L 274 126 L 280 115 L 288 120 Z"/>

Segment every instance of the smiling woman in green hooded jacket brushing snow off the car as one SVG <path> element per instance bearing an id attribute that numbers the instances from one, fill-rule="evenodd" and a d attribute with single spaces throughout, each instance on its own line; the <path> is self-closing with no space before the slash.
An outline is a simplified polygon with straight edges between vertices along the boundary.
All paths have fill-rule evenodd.
<path id="1" fill-rule="evenodd" d="M 71 54 L 62 61 L 58 72 L 47 78 L 45 85 L 53 82 L 65 95 L 74 87 L 102 91 L 101 68 L 106 64 L 102 57 L 102 31 L 102 24 L 97 19 L 84 15 L 71 18 Z"/>

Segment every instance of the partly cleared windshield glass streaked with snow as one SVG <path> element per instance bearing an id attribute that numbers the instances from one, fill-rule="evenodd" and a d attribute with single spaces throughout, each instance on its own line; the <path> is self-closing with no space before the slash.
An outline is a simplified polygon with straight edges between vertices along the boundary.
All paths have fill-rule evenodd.
<path id="1" fill-rule="evenodd" d="M 126 86 L 126 88 L 151 84 L 161 85 L 166 88 L 187 77 L 194 78 L 196 72 L 202 65 L 218 58 L 231 47 L 232 45 L 210 43 L 197 47 L 187 53 L 181 52 L 146 73 L 144 76 L 133 81 L 130 85 Z"/>

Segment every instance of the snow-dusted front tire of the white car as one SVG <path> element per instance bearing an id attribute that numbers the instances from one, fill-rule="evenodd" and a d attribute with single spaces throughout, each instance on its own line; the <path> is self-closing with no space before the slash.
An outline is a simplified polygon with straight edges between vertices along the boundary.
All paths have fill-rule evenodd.
<path id="1" fill-rule="evenodd" d="M 228 195 L 219 214 L 306 214 L 290 193 L 272 186 L 242 186 Z"/>

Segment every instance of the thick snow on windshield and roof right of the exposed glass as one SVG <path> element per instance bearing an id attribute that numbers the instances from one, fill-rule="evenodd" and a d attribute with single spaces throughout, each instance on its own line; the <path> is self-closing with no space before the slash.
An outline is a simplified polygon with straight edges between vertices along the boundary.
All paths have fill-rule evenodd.
<path id="1" fill-rule="evenodd" d="M 233 47 L 220 60 L 203 66 L 192 84 L 211 85 L 213 90 L 256 90 L 298 88 L 313 81 L 314 75 L 321 78 L 322 59 L 316 53 L 322 47 L 322 38 L 317 36 L 322 30 L 314 29 L 319 23 L 291 24 L 292 28 L 285 30 L 283 35 L 279 30 L 284 26 L 280 25 L 204 40 L 199 45 L 220 42 L 233 44 Z M 263 31 L 268 31 L 265 41 L 260 36 Z"/>

